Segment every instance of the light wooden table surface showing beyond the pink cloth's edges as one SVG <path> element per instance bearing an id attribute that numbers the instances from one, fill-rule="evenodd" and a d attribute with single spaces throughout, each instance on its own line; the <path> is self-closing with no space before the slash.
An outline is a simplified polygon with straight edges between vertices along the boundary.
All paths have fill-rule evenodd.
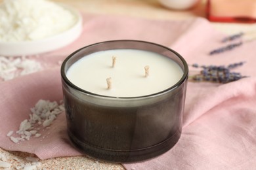
<path id="1" fill-rule="evenodd" d="M 0 0 L 0 2 L 3 0 Z M 161 6 L 158 0 L 54 0 L 66 3 L 89 14 L 113 14 L 120 16 L 133 16 L 138 18 L 152 18 L 158 20 L 186 20 L 188 18 L 205 18 L 205 0 L 200 1 L 190 10 L 170 10 Z M 214 27 L 224 33 L 232 34 L 256 28 L 255 24 L 226 24 L 212 23 Z M 9 152 L 0 148 L 12 167 L 28 163 L 26 157 L 33 156 L 22 152 Z M 39 161 L 39 169 L 124 169 L 117 163 L 96 161 L 87 156 L 72 158 L 53 158 Z M 1 169 L 1 167 L 0 167 Z"/>

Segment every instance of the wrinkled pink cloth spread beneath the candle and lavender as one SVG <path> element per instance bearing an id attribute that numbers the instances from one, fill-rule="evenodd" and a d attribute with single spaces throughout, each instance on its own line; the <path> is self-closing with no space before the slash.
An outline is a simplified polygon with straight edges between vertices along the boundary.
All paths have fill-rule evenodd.
<path id="1" fill-rule="evenodd" d="M 236 71 L 249 76 L 228 84 L 188 82 L 183 129 L 179 142 L 152 160 L 124 163 L 127 169 L 253 169 L 256 167 L 256 41 L 209 56 L 222 46 L 223 33 L 196 18 L 186 21 L 144 20 L 119 16 L 84 16 L 77 41 L 37 58 L 51 65 L 44 71 L 0 82 L 0 147 L 36 154 L 41 159 L 78 156 L 66 133 L 65 114 L 54 120 L 42 136 L 12 143 L 7 137 L 27 119 L 39 99 L 62 99 L 57 63 L 88 44 L 114 39 L 151 41 L 173 48 L 188 63 L 228 65 L 246 61 Z M 190 74 L 194 73 L 190 70 Z M 43 136 L 45 136 L 43 138 Z"/>

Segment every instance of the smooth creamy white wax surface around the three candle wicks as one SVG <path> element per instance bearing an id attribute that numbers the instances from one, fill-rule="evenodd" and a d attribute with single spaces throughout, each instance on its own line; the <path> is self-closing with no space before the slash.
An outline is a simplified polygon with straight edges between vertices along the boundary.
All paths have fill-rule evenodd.
<path id="1" fill-rule="evenodd" d="M 116 64 L 112 67 L 112 57 Z M 145 76 L 144 67 L 149 66 Z M 105 50 L 89 54 L 68 69 L 66 76 L 87 92 L 111 97 L 138 97 L 158 93 L 176 84 L 183 75 L 172 59 L 134 49 Z M 108 89 L 106 78 L 111 77 Z"/>

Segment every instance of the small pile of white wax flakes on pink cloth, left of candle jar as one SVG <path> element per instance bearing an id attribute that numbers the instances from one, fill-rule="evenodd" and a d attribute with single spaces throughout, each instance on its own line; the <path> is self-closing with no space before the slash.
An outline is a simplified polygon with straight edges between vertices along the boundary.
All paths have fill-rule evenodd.
<path id="1" fill-rule="evenodd" d="M 12 136 L 11 131 L 7 133 L 11 141 L 18 143 L 19 141 L 30 140 L 32 137 L 41 137 L 41 133 L 38 133 L 40 129 L 49 129 L 47 127 L 53 124 L 56 116 L 64 111 L 64 104 L 58 105 L 56 101 L 47 101 L 40 99 L 35 104 L 35 107 L 31 108 L 32 112 L 29 114 L 29 119 L 23 120 L 20 123 L 20 127 L 16 134 L 18 137 Z M 42 123 L 43 122 L 43 123 Z"/>

